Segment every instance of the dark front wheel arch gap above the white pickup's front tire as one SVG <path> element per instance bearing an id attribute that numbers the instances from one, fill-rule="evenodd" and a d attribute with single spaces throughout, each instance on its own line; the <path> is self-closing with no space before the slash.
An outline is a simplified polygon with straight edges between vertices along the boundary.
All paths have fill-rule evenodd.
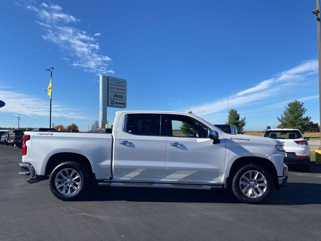
<path id="1" fill-rule="evenodd" d="M 265 166 L 269 170 L 269 172 L 272 176 L 273 185 L 275 187 L 277 186 L 278 179 L 277 179 L 276 167 L 274 166 L 273 162 L 271 162 L 270 160 L 268 160 L 266 158 L 262 158 L 262 157 L 240 157 L 240 158 L 236 159 L 230 168 L 229 177 L 228 177 L 229 182 L 230 182 L 229 184 L 231 184 L 231 181 L 232 181 L 234 175 L 237 173 L 237 171 L 240 169 L 240 167 L 244 166 L 246 164 L 259 164 L 259 165 Z"/>

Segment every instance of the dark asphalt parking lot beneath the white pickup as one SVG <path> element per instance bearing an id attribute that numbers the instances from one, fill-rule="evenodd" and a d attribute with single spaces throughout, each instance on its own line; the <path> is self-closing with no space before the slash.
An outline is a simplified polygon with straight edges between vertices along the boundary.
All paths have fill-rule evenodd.
<path id="1" fill-rule="evenodd" d="M 264 204 L 223 190 L 99 187 L 80 201 L 19 176 L 21 149 L 0 145 L 0 240 L 321 240 L 321 166 L 292 170 Z M 291 169 L 290 169 L 291 170 Z"/>

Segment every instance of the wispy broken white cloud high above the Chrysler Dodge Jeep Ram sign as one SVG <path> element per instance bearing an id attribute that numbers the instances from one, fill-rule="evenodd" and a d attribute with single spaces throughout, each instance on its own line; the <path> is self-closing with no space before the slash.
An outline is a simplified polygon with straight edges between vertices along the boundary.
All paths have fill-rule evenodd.
<path id="1" fill-rule="evenodd" d="M 96 74 L 114 73 L 108 68 L 111 58 L 99 53 L 100 45 L 94 37 L 100 36 L 100 33 L 95 33 L 93 37 L 86 31 L 72 27 L 70 24 L 80 20 L 64 13 L 59 5 L 28 4 L 26 8 L 35 12 L 41 20 L 36 23 L 45 30 L 42 38 L 63 49 L 68 59 L 72 59 L 69 61 L 72 66 Z"/>

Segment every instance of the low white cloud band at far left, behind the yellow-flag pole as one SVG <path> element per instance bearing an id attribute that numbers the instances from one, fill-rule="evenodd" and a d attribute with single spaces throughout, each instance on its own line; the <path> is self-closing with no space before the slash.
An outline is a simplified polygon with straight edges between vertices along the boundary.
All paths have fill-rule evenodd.
<path id="1" fill-rule="evenodd" d="M 30 117 L 49 116 L 49 101 L 32 95 L 0 89 L 0 96 L 6 105 L 0 108 L 0 112 L 25 114 Z M 52 105 L 53 117 L 64 117 L 73 119 L 87 119 L 83 110 L 67 107 L 63 104 Z"/>

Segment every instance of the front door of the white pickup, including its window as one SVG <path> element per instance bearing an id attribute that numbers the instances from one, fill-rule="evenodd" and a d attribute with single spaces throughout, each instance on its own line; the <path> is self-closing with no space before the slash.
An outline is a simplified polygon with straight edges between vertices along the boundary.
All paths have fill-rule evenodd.
<path id="1" fill-rule="evenodd" d="M 166 181 L 219 183 L 225 164 L 225 141 L 213 144 L 208 130 L 197 119 L 167 115 Z"/>

